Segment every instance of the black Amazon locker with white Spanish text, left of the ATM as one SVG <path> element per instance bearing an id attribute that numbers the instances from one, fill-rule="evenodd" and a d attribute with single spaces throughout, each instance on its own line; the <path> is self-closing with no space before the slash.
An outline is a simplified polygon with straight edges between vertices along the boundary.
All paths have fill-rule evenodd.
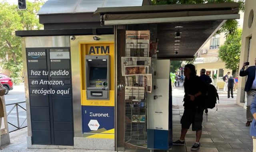
<path id="1" fill-rule="evenodd" d="M 74 145 L 70 48 L 27 48 L 32 144 Z"/>

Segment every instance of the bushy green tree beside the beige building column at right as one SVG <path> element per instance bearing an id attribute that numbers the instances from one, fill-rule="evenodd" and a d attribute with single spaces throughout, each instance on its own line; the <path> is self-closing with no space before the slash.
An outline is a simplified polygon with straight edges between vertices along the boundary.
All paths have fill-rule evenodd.
<path id="1" fill-rule="evenodd" d="M 242 29 L 236 29 L 232 35 L 226 37 L 226 41 L 219 49 L 219 57 L 225 62 L 225 67 L 236 70 L 239 67 Z"/>

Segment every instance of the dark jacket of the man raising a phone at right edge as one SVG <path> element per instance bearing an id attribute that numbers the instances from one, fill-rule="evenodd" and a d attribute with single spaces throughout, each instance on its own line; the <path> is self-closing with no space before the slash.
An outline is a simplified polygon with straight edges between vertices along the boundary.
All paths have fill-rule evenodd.
<path id="1" fill-rule="evenodd" d="M 239 76 L 247 76 L 244 91 L 248 92 L 252 88 L 252 83 L 255 79 L 256 66 L 249 66 L 246 70 L 240 71 Z"/>

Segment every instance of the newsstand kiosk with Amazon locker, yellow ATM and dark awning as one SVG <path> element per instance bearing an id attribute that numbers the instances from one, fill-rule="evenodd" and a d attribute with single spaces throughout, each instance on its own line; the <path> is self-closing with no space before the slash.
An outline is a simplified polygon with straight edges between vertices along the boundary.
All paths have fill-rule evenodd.
<path id="1" fill-rule="evenodd" d="M 57 1 L 39 12 L 45 30 L 16 31 L 28 147 L 169 150 L 170 59 L 191 60 L 227 19 L 239 18 L 239 5 Z"/>

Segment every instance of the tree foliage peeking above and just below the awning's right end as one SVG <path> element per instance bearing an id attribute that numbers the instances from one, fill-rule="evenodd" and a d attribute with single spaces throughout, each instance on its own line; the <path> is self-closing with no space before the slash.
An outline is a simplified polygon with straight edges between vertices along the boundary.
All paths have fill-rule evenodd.
<path id="1" fill-rule="evenodd" d="M 204 3 L 226 3 L 226 2 L 238 2 L 240 4 L 240 10 L 244 12 L 245 0 L 152 0 L 153 5 L 164 5 L 164 4 L 204 4 Z M 223 26 L 216 32 L 220 34 L 222 32 L 232 34 L 238 27 L 237 20 L 227 20 Z"/>

